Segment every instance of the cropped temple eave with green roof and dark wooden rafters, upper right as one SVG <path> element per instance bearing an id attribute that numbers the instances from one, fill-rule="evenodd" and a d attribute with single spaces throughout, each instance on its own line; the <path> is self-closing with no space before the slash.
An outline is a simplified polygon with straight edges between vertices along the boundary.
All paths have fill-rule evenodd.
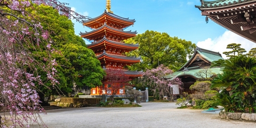
<path id="1" fill-rule="evenodd" d="M 256 43 L 256 1 L 255 0 L 201 0 L 195 5 L 202 15 L 220 26 Z"/>

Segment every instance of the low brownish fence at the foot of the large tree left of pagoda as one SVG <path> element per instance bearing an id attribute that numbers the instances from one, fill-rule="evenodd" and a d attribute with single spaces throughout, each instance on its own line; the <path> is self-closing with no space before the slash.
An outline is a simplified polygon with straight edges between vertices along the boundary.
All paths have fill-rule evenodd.
<path id="1" fill-rule="evenodd" d="M 101 98 L 60 98 L 58 106 L 62 107 L 86 107 L 100 103 Z"/>

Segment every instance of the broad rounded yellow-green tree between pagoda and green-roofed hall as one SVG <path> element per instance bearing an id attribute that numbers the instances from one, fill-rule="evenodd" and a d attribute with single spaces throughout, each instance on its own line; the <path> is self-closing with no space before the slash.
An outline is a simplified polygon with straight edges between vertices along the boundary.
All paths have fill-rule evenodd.
<path id="1" fill-rule="evenodd" d="M 178 70 L 191 57 L 195 44 L 178 37 L 170 37 L 167 33 L 145 31 L 143 34 L 127 39 L 125 43 L 139 43 L 139 49 L 127 53 L 129 56 L 141 57 L 140 63 L 130 67 L 132 70 L 153 69 L 164 65 Z"/>

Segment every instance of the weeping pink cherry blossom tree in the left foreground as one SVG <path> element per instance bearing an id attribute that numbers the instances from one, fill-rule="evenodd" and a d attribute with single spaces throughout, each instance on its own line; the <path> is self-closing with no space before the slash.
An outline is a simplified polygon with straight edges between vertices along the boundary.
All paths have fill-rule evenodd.
<path id="1" fill-rule="evenodd" d="M 39 115 L 45 111 L 40 106 L 35 84 L 44 86 L 44 82 L 50 82 L 58 88 L 55 69 L 58 63 L 52 58 L 52 53 L 58 51 L 51 47 L 52 31 L 44 29 L 41 26 L 44 21 L 27 11 L 38 4 L 55 4 L 77 21 L 85 18 L 55 0 L 0 0 L 0 107 L 4 113 L 1 127 L 46 126 Z M 37 51 L 42 50 L 47 58 L 37 61 L 35 58 L 42 58 Z M 46 73 L 46 79 L 38 75 L 41 72 Z"/>

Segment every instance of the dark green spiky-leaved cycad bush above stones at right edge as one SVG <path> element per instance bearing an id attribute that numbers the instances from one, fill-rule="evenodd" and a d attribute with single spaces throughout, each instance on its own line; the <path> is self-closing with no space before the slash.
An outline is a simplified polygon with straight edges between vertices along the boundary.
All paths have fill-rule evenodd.
<path id="1" fill-rule="evenodd" d="M 226 111 L 255 113 L 256 111 L 256 58 L 239 55 L 225 60 L 211 87 L 219 87 L 217 101 Z"/>

